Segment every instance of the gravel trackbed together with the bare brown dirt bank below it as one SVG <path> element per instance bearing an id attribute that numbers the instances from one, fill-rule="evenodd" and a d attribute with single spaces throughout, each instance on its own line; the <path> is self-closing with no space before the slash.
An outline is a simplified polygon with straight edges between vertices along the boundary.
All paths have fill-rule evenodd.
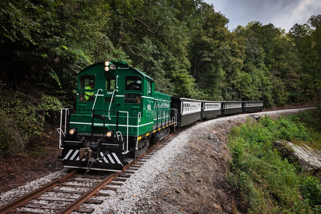
<path id="1" fill-rule="evenodd" d="M 95 196 L 94 200 L 103 200 L 101 204 L 82 204 L 82 207 L 94 208 L 93 213 L 130 213 L 140 211 L 142 213 L 190 213 L 204 207 L 208 203 L 209 209 L 229 212 L 229 193 L 224 189 L 224 178 L 226 167 L 225 147 L 226 135 L 233 125 L 246 121 L 247 116 L 271 117 L 293 114 L 299 109 L 281 110 L 264 113 L 254 113 L 218 118 L 198 123 L 185 129 L 172 139 L 165 147 L 153 151 L 152 156 L 145 157 L 142 165 L 139 164 L 135 173 L 128 173 L 123 185 L 114 186 L 117 190 L 100 190 L 100 193 L 109 196 Z M 208 139 L 208 134 L 213 139 Z M 39 184 L 48 183 L 61 175 L 64 170 L 52 173 L 46 177 L 9 191 L 1 195 L 1 201 L 12 201 L 17 196 L 26 194 Z M 88 180 L 89 178 L 76 177 L 73 180 Z M 95 180 L 91 180 L 95 181 Z M 121 183 L 121 181 L 115 181 Z M 76 181 L 70 181 L 70 185 L 79 185 Z M 92 183 L 95 184 L 95 183 Z M 86 184 L 87 185 L 87 184 Z M 72 187 L 61 187 L 70 191 Z M 206 189 L 208 188 L 208 189 Z M 74 191 L 84 191 L 76 189 Z M 56 194 L 56 195 L 55 195 Z M 56 197 L 59 194 L 50 192 L 40 197 Z M 71 193 L 69 193 L 71 194 Z M 71 195 L 67 197 L 72 198 Z M 48 199 L 48 198 L 45 198 Z M 209 200 L 211 199 L 211 200 Z M 59 202 L 59 203 L 57 203 Z M 48 200 L 39 200 L 38 204 L 47 204 Z M 69 202 L 56 201 L 52 206 L 64 207 Z M 44 207 L 45 208 L 45 207 Z M 23 208 L 30 213 L 34 209 Z M 48 210 L 47 210 L 48 211 Z M 37 209 L 37 212 L 46 212 Z"/>

